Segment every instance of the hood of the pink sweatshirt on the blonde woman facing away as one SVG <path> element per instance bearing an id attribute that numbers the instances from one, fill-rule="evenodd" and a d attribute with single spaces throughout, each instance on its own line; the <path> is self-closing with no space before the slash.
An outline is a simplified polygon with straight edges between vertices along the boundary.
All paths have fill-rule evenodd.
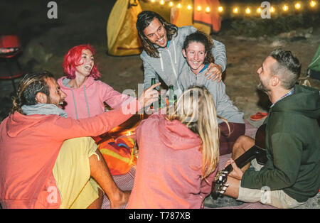
<path id="1" fill-rule="evenodd" d="M 159 137 L 162 143 L 174 150 L 199 146 L 201 139 L 178 120 L 169 121 L 159 116 Z"/>

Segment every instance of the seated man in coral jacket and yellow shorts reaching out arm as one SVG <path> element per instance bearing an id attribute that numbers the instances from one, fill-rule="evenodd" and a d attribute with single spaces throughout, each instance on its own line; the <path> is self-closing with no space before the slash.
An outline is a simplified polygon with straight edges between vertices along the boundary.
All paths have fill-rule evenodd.
<path id="1" fill-rule="evenodd" d="M 153 85 L 133 103 L 88 119 L 67 118 L 66 94 L 49 72 L 21 80 L 13 108 L 0 124 L 0 202 L 4 208 L 100 208 L 103 192 L 111 207 L 130 193 L 119 190 L 95 141 L 157 99 Z"/>

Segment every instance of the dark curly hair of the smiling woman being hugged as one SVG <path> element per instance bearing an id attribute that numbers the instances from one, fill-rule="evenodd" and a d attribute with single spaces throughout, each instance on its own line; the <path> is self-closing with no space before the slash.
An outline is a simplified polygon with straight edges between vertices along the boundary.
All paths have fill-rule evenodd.
<path id="1" fill-rule="evenodd" d="M 209 64 L 210 62 L 214 61 L 212 51 L 211 51 L 213 48 L 213 40 L 210 38 L 210 36 L 208 36 L 206 33 L 203 33 L 201 31 L 196 31 L 195 33 L 191 33 L 186 37 L 186 40 L 184 40 L 183 50 L 186 50 L 186 48 L 188 48 L 189 44 L 192 42 L 202 43 L 205 46 L 206 58 L 203 61 L 204 64 Z"/>

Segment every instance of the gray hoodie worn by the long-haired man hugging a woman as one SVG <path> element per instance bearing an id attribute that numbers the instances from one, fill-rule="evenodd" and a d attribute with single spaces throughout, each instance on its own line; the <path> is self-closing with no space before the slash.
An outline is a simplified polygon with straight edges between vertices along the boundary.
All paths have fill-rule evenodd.
<path id="1" fill-rule="evenodd" d="M 178 82 L 179 75 L 182 72 L 186 59 L 183 57 L 182 48 L 186 36 L 196 32 L 193 26 L 183 26 L 178 28 L 178 35 L 173 36 L 166 48 L 158 48 L 160 58 L 152 58 L 144 50 L 140 55 L 144 62 L 144 89 L 150 87 L 151 78 L 159 80 L 158 76 L 166 83 L 166 85 L 174 85 L 174 90 L 181 89 Z M 213 56 L 215 64 L 220 65 L 225 70 L 227 58 L 225 55 L 225 45 L 213 40 Z"/>

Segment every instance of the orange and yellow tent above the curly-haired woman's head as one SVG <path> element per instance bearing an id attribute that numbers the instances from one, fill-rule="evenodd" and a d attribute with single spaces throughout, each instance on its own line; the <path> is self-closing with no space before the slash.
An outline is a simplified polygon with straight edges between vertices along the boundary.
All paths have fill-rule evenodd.
<path id="1" fill-rule="evenodd" d="M 191 9 L 186 6 L 190 5 Z M 210 35 L 211 31 L 218 32 L 221 28 L 221 17 L 218 13 L 219 0 L 181 0 L 181 7 L 171 9 L 171 23 L 176 26 L 194 26 L 199 31 Z M 206 8 L 210 11 L 207 12 Z"/>

